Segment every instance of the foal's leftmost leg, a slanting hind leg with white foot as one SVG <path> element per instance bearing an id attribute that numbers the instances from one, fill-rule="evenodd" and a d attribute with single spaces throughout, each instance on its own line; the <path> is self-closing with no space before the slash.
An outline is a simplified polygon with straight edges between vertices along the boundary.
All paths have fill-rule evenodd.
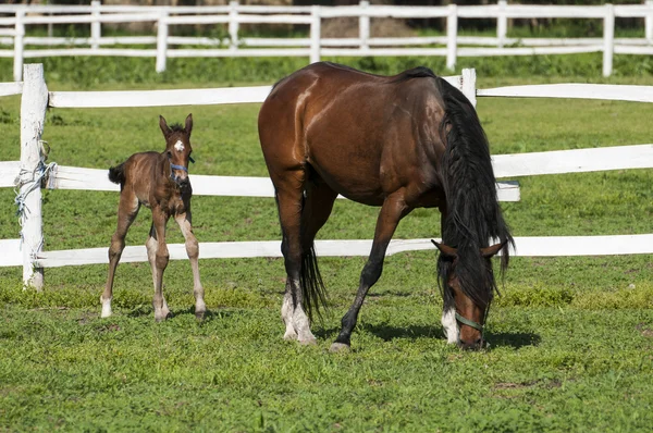
<path id="1" fill-rule="evenodd" d="M 115 268 L 125 248 L 125 236 L 130 226 L 136 219 L 140 209 L 140 203 L 132 188 L 124 188 L 120 194 L 120 205 L 118 207 L 118 227 L 113 236 L 111 236 L 111 246 L 109 247 L 109 275 L 104 292 L 100 296 L 102 304 L 102 318 L 111 316 L 111 298 L 113 297 L 113 279 L 115 276 Z"/>

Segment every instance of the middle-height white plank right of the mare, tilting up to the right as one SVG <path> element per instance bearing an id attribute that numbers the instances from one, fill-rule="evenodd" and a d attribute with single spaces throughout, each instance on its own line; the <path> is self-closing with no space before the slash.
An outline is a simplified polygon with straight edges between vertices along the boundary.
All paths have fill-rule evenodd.
<path id="1" fill-rule="evenodd" d="M 495 154 L 492 165 L 496 177 L 653 169 L 653 145 Z"/>

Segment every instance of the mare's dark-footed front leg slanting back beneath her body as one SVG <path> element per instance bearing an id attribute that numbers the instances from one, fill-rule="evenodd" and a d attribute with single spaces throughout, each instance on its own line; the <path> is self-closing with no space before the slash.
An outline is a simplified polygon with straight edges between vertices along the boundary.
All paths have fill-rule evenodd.
<path id="1" fill-rule="evenodd" d="M 370 287 L 374 285 L 381 276 L 387 244 L 390 244 L 397 224 L 408 212 L 410 212 L 410 208 L 406 206 L 404 197 L 401 194 L 389 196 L 383 202 L 379 219 L 377 220 L 372 251 L 360 273 L 358 293 L 356 294 L 354 304 L 343 317 L 341 332 L 335 342 L 331 345 L 331 351 L 349 348 L 352 331 L 354 330 L 354 326 L 356 326 L 358 312 L 360 311 L 362 301 Z"/>

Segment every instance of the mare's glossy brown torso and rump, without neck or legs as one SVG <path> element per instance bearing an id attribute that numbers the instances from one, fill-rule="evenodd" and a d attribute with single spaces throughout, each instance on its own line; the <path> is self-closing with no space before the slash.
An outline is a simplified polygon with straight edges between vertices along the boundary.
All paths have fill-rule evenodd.
<path id="1" fill-rule="evenodd" d="M 444 149 L 440 86 L 428 69 L 379 76 L 315 63 L 295 72 L 259 113 L 272 181 L 309 164 L 332 189 L 369 205 L 403 185 L 433 184 Z"/>

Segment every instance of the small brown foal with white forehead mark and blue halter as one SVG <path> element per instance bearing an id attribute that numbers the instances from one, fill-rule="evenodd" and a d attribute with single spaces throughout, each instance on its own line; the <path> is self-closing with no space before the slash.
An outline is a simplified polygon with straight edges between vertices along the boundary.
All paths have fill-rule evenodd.
<path id="1" fill-rule="evenodd" d="M 159 116 L 159 126 L 165 138 L 165 150 L 162 153 L 134 153 L 122 164 L 109 170 L 109 180 L 120 184 L 120 206 L 118 208 L 118 228 L 111 237 L 111 247 L 109 247 L 109 276 L 100 297 L 103 318 L 111 316 L 115 268 L 125 248 L 127 231 L 136 219 L 141 205 L 152 211 L 152 225 L 145 245 L 155 282 L 152 302 L 155 319 L 161 321 L 170 317 L 161 287 L 163 271 L 165 271 L 169 259 L 165 225 L 170 216 L 177 222 L 186 239 L 186 252 L 193 268 L 195 316 L 201 319 L 207 310 L 197 263 L 199 247 L 193 234 L 190 216 L 193 188 L 188 178 L 188 162 L 193 161 L 190 158 L 193 115 L 188 114 L 184 127 L 181 125 L 169 127 L 165 119 Z"/>

